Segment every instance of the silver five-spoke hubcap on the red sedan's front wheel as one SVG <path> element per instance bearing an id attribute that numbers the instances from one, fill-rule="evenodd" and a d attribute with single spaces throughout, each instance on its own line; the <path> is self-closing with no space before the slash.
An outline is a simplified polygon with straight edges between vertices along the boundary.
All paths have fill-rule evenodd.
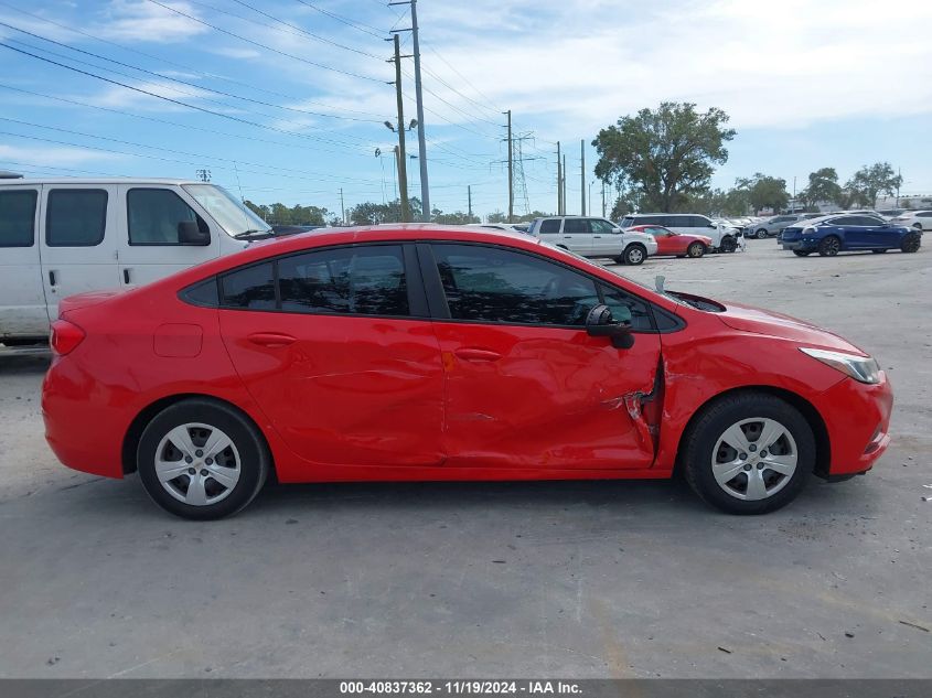
<path id="1" fill-rule="evenodd" d="M 775 419 L 735 422 L 713 449 L 711 470 L 726 493 L 743 501 L 767 500 L 796 472 L 799 450 L 790 430 Z"/>

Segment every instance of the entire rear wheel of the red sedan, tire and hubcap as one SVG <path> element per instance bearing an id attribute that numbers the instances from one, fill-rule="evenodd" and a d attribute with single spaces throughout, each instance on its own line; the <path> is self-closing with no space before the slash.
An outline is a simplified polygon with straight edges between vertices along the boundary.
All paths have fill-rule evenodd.
<path id="1" fill-rule="evenodd" d="M 175 516 L 197 520 L 244 508 L 263 488 L 271 463 L 250 420 L 205 399 L 183 400 L 159 412 L 142 432 L 136 458 L 152 501 Z"/>

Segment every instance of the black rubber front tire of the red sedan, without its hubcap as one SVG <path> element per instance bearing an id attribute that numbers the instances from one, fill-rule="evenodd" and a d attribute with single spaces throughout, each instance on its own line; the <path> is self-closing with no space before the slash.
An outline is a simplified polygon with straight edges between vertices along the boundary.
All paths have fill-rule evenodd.
<path id="1" fill-rule="evenodd" d="M 742 421 L 753 422 L 756 418 L 774 420 L 792 436 L 796 465 L 790 476 L 761 469 L 760 472 L 774 477 L 780 487 L 765 498 L 742 500 L 729 494 L 726 485 L 716 481 L 713 473 L 714 450 L 729 427 Z M 729 514 L 765 514 L 785 506 L 802 492 L 815 468 L 815 452 L 812 428 L 795 407 L 772 395 L 747 391 L 720 398 L 703 408 L 684 434 L 681 455 L 686 481 L 704 502 Z M 746 455 L 753 458 L 752 454 Z M 754 470 L 753 465 L 744 468 Z M 743 472 L 739 472 L 736 480 L 740 481 Z M 743 476 L 747 479 L 747 475 Z M 786 482 L 783 483 L 783 480 Z"/>

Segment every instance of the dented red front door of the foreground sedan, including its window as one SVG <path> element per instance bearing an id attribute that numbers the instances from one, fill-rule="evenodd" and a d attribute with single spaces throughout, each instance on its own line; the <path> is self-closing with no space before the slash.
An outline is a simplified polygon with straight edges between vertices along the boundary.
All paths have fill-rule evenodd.
<path id="1" fill-rule="evenodd" d="M 601 302 L 617 320 L 631 320 L 615 289 L 529 253 L 478 244 L 419 248 L 421 255 L 429 248 L 425 276 L 437 270 L 444 300 L 433 330 L 446 380 L 447 465 L 652 465 L 641 405 L 657 387 L 660 335 L 638 332 L 632 347 L 615 348 L 583 326 Z"/>

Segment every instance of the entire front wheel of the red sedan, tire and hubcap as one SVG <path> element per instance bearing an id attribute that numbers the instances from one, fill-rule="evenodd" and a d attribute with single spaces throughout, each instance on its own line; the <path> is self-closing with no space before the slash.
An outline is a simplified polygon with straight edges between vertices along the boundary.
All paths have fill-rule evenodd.
<path id="1" fill-rule="evenodd" d="M 686 480 L 729 514 L 764 514 L 802 492 L 815 466 L 815 437 L 800 411 L 762 393 L 725 397 L 684 436 Z"/>

